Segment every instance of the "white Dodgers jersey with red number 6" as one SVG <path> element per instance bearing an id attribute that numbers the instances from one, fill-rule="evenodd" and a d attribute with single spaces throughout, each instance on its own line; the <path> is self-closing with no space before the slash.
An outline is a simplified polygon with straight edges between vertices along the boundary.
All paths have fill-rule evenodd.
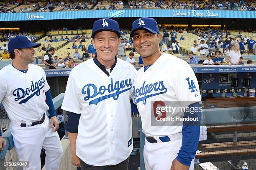
<path id="1" fill-rule="evenodd" d="M 182 126 L 151 126 L 151 101 L 201 101 L 197 78 L 189 64 L 171 54 L 162 54 L 144 72 L 136 73 L 133 83 L 134 101 L 141 115 L 143 132 L 148 136 L 166 136 L 182 132 Z M 191 101 L 191 102 L 190 102 Z"/>

